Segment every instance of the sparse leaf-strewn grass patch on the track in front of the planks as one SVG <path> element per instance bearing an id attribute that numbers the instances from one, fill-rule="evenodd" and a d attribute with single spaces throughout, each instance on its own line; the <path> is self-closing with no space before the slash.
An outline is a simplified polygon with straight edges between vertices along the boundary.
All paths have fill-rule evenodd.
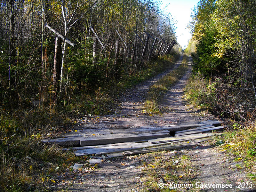
<path id="1" fill-rule="evenodd" d="M 170 189 L 170 183 L 192 183 L 195 186 L 196 168 L 190 161 L 190 157 L 183 155 L 182 151 L 162 151 L 152 152 L 143 155 L 147 159 L 147 163 L 142 166 L 145 177 L 141 178 L 143 182 L 141 192 L 148 191 L 162 191 L 162 192 L 176 192 L 176 191 L 193 191 L 193 189 Z M 178 160 L 178 163 L 175 161 Z M 193 169 L 194 168 L 194 169 Z M 157 186 L 159 181 L 163 181 L 164 188 L 160 189 Z"/>

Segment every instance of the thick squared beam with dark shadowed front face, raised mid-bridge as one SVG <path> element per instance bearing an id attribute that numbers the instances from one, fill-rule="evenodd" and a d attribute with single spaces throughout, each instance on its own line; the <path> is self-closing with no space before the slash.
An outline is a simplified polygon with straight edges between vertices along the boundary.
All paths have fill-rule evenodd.
<path id="1" fill-rule="evenodd" d="M 102 145 L 102 144 L 110 144 L 110 143 L 121 143 L 128 141 L 139 141 L 139 140 L 148 140 L 148 139 L 156 139 L 160 137 L 168 137 L 169 133 L 141 133 L 141 134 L 109 134 L 109 135 L 96 135 L 90 136 L 80 140 L 81 146 L 87 145 Z"/>

